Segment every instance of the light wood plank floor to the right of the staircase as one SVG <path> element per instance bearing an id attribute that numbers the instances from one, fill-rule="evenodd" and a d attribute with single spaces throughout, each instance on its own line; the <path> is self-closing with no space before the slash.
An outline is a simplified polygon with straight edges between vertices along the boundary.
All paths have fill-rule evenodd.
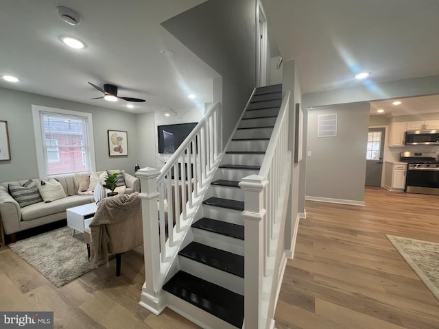
<path id="1" fill-rule="evenodd" d="M 385 237 L 439 243 L 439 196 L 366 188 L 364 201 L 306 202 L 277 328 L 439 328 L 439 301 Z"/>

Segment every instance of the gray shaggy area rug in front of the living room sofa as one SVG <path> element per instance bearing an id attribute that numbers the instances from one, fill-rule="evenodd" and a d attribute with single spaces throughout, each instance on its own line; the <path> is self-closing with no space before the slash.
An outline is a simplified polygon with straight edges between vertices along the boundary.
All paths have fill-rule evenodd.
<path id="1" fill-rule="evenodd" d="M 69 227 L 32 236 L 9 245 L 56 287 L 62 287 L 91 271 L 84 234 Z"/>

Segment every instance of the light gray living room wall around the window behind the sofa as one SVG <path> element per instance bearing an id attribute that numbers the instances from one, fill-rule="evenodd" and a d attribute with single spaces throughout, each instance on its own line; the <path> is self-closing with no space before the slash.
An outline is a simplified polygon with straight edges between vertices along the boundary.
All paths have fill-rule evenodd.
<path id="1" fill-rule="evenodd" d="M 136 115 L 0 88 L 0 120 L 8 121 L 11 149 L 11 160 L 0 162 L 0 182 L 38 178 L 32 104 L 91 113 L 96 169 L 124 169 L 134 173 L 138 149 Z M 128 132 L 128 156 L 108 156 L 107 130 Z"/>

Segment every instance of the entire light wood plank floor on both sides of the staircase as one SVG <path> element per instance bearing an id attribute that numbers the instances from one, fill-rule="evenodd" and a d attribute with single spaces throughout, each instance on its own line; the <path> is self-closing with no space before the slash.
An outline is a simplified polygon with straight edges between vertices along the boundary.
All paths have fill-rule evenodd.
<path id="1" fill-rule="evenodd" d="M 279 329 L 439 328 L 439 302 L 385 234 L 439 242 L 439 196 L 366 188 L 366 206 L 307 202 L 276 309 Z M 0 310 L 53 310 L 55 328 L 199 328 L 139 306 L 141 249 L 60 289 L 0 248 Z M 249 328 L 251 329 L 251 328 Z"/>

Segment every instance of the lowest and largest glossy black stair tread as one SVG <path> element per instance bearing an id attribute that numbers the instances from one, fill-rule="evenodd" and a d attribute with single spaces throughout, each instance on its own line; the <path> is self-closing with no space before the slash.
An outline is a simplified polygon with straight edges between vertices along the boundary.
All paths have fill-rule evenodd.
<path id="1" fill-rule="evenodd" d="M 244 296 L 202 280 L 184 271 L 178 271 L 163 290 L 219 317 L 237 328 L 244 321 Z"/>

